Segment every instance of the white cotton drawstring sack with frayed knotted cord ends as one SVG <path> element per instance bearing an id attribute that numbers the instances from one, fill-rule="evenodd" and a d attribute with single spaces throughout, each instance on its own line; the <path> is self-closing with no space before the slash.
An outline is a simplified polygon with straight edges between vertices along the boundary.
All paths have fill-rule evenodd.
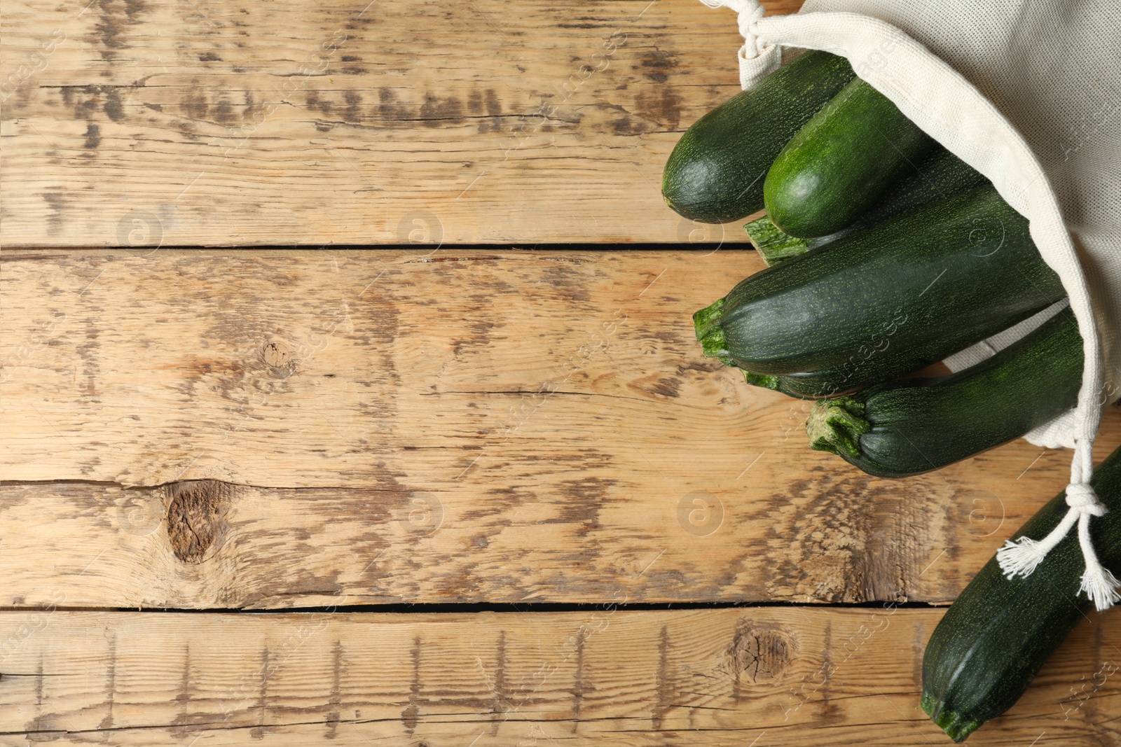
<path id="1" fill-rule="evenodd" d="M 1083 590 L 1100 609 L 1121 599 L 1084 530 L 1104 512 L 1087 486 L 1101 410 L 1121 394 L 1115 7 L 1105 0 L 806 0 L 795 15 L 765 17 L 756 0 L 702 2 L 739 12 L 744 88 L 778 66 L 784 46 L 847 57 L 856 75 L 1028 218 L 1036 246 L 1066 289 L 1085 366 L 1078 407 L 1028 435 L 1039 446 L 1074 449 L 1062 535 L 1008 543 L 998 557 L 1009 575 L 1030 573 L 1077 523 L 1086 538 Z M 1011 338 L 948 363 L 969 365 Z"/>

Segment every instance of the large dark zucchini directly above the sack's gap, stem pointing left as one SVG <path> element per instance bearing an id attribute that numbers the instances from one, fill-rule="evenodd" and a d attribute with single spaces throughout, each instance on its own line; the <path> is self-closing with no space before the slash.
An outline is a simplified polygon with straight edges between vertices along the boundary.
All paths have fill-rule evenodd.
<path id="1" fill-rule="evenodd" d="M 757 272 L 694 325 L 705 355 L 726 364 L 845 368 L 859 387 L 924 368 L 1064 296 L 1027 221 L 979 187 Z"/>

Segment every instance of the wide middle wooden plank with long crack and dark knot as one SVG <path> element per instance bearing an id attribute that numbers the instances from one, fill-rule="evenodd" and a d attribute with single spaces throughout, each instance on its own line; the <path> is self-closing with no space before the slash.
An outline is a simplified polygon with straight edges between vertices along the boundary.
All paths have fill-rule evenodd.
<path id="1" fill-rule="evenodd" d="M 810 451 L 693 339 L 753 252 L 0 261 L 0 604 L 942 604 L 1065 484 Z"/>

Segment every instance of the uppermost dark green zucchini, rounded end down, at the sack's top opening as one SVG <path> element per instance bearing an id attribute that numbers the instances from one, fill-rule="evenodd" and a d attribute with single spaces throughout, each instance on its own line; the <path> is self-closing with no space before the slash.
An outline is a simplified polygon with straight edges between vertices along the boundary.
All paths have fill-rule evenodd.
<path id="1" fill-rule="evenodd" d="M 844 57 L 809 50 L 702 116 L 666 162 L 666 204 L 702 223 L 758 212 L 771 161 L 852 77 Z"/>

